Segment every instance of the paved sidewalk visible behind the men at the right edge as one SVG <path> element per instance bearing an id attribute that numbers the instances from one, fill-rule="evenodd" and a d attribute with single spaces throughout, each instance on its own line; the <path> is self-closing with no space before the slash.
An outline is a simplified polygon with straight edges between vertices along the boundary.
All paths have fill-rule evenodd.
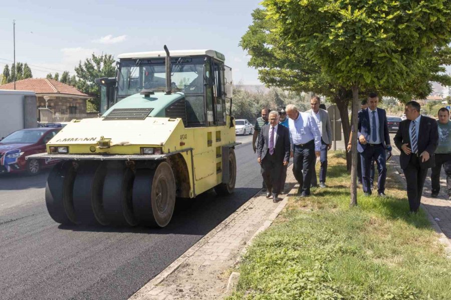
<path id="1" fill-rule="evenodd" d="M 389 164 L 394 167 L 397 172 L 401 175 L 403 182 L 405 183 L 405 177 L 404 172 L 399 166 L 399 154 L 400 151 L 397 148 L 393 148 L 393 157 L 391 161 L 389 161 Z M 430 183 L 430 169 L 428 171 L 426 181 L 424 182 L 423 187 L 423 194 L 421 196 L 421 204 L 426 209 L 426 211 L 429 213 L 430 217 L 433 219 L 431 220 L 432 225 L 435 226 L 435 224 L 438 226 L 436 230 L 438 233 L 443 233 L 443 238 L 440 238 L 440 240 L 445 244 L 447 247 L 448 256 L 451 255 L 451 201 L 448 200 L 448 195 L 446 194 L 446 175 L 441 170 L 440 173 L 440 192 L 438 194 L 437 198 L 432 198 L 430 196 L 431 193 L 431 183 Z M 407 196 L 407 195 L 406 195 Z M 440 232 L 441 230 L 441 232 Z M 444 240 L 446 239 L 446 240 Z"/>

